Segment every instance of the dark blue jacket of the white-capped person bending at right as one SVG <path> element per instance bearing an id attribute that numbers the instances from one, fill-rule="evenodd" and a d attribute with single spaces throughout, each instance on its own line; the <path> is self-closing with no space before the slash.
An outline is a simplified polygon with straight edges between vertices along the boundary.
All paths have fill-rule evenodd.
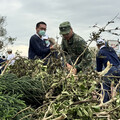
<path id="1" fill-rule="evenodd" d="M 106 67 L 108 61 L 110 61 L 113 66 L 120 65 L 119 57 L 115 50 L 112 47 L 105 46 L 100 49 L 96 57 L 97 71 L 102 71 L 103 66 Z"/>

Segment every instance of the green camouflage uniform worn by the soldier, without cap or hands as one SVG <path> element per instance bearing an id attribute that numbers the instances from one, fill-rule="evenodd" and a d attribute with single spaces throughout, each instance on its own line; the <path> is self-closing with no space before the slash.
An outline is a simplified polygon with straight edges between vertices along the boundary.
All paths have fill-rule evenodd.
<path id="1" fill-rule="evenodd" d="M 73 65 L 79 55 L 87 47 L 84 39 L 77 34 L 73 33 L 72 37 L 68 40 L 62 39 L 62 50 L 66 52 L 66 60 L 69 64 Z M 86 68 L 91 63 L 91 54 L 88 49 L 85 53 L 79 58 L 75 68 L 77 72 Z"/>

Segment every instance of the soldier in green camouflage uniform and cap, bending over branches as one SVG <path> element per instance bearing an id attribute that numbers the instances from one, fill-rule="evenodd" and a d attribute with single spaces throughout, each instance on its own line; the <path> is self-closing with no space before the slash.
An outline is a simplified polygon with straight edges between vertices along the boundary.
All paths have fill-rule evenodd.
<path id="1" fill-rule="evenodd" d="M 77 74 L 79 71 L 83 70 L 83 68 L 86 68 L 91 63 L 91 54 L 87 48 L 73 68 L 73 64 L 75 63 L 78 56 L 83 53 L 87 47 L 87 44 L 82 37 L 73 32 L 70 22 L 66 21 L 61 23 L 59 30 L 60 34 L 62 35 L 61 47 L 62 50 L 66 53 L 65 55 L 67 60 L 67 69 L 70 70 L 72 68 L 72 72 L 74 74 Z"/>

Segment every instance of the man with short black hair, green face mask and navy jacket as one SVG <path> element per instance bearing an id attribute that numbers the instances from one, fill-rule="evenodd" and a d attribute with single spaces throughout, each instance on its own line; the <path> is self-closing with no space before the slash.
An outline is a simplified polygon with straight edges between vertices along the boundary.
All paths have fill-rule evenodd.
<path id="1" fill-rule="evenodd" d="M 42 37 L 45 35 L 47 24 L 45 22 L 38 22 L 36 24 L 36 34 L 34 34 L 29 41 L 29 59 L 44 59 L 53 49 L 52 46 L 46 47 L 45 41 Z"/>

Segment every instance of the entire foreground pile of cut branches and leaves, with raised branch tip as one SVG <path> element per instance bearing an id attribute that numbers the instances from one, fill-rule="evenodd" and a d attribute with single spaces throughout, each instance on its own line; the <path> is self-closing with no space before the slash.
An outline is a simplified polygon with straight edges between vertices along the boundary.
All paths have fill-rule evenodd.
<path id="1" fill-rule="evenodd" d="M 102 32 L 113 34 L 106 29 L 113 20 L 105 27 L 99 28 L 98 32 L 93 32 L 90 43 L 99 38 Z M 17 120 L 118 120 L 120 118 L 119 92 L 114 92 L 113 96 L 111 94 L 111 99 L 103 103 L 103 81 L 92 67 L 72 75 L 63 69 L 60 58 L 50 58 L 47 65 L 43 64 L 39 59 L 28 60 L 19 56 L 15 64 L 9 66 L 1 76 L 0 109 L 4 109 L 0 113 L 1 118 L 5 120 L 13 117 Z M 119 86 L 120 82 L 117 85 Z M 114 88 L 117 85 L 114 84 Z M 34 108 L 32 112 L 31 109 L 24 110 L 28 105 Z M 19 112 L 20 110 L 22 112 Z"/>

